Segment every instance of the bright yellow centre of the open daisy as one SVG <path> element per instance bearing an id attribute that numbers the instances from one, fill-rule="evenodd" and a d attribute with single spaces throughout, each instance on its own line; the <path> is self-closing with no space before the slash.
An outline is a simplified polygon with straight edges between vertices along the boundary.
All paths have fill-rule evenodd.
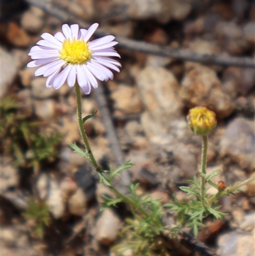
<path id="1" fill-rule="evenodd" d="M 69 64 L 84 64 L 91 59 L 89 43 L 82 40 L 64 40 L 59 51 L 61 59 Z"/>

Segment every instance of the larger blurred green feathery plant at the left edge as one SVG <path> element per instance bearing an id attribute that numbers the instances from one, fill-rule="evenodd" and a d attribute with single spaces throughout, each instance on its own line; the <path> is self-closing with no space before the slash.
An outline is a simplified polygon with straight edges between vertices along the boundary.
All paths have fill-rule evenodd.
<path id="1" fill-rule="evenodd" d="M 1 151 L 14 156 L 17 167 L 32 168 L 38 172 L 42 162 L 53 162 L 59 155 L 61 135 L 46 133 L 40 121 L 18 107 L 17 98 L 10 95 L 1 100 Z"/>

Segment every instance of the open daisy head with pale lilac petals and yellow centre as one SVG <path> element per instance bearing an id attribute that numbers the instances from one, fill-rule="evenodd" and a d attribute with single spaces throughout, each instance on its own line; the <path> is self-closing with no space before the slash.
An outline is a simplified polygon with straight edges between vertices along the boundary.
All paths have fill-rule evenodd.
<path id="1" fill-rule="evenodd" d="M 110 57 L 120 57 L 115 51 L 117 41 L 114 36 L 103 36 L 89 41 L 96 31 L 98 24 L 92 24 L 89 29 L 79 29 L 78 24 L 70 27 L 62 25 L 62 33 L 57 32 L 52 36 L 43 33 L 36 46 L 32 47 L 29 56 L 30 63 L 27 67 L 39 67 L 34 75 L 48 77 L 46 86 L 59 89 L 64 82 L 73 87 L 77 82 L 85 94 L 98 87 L 98 80 L 113 79 L 110 69 L 119 72 L 120 63 Z"/>

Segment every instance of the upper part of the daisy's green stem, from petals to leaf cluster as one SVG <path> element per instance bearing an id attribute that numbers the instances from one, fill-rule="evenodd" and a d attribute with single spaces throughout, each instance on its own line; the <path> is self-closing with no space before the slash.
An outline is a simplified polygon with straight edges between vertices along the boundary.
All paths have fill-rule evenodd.
<path id="1" fill-rule="evenodd" d="M 94 166 L 96 171 L 101 171 L 101 167 L 99 167 L 98 162 L 96 162 L 96 159 L 94 158 L 94 155 L 91 151 L 91 146 L 89 146 L 89 140 L 87 139 L 87 135 L 85 133 L 84 122 L 82 121 L 82 102 L 81 102 L 81 96 L 80 96 L 80 87 L 78 86 L 78 84 L 75 84 L 75 93 L 77 98 L 77 119 L 78 119 L 80 135 L 82 136 L 85 149 L 89 154 L 89 159 L 91 160 L 92 165 Z"/>

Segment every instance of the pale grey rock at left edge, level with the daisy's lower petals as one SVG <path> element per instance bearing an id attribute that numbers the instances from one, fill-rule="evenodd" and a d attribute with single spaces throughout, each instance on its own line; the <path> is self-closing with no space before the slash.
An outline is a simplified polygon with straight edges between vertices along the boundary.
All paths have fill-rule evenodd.
<path id="1" fill-rule="evenodd" d="M 8 93 L 8 87 L 15 79 L 18 68 L 14 57 L 3 47 L 0 47 L 1 54 L 1 97 Z"/>

